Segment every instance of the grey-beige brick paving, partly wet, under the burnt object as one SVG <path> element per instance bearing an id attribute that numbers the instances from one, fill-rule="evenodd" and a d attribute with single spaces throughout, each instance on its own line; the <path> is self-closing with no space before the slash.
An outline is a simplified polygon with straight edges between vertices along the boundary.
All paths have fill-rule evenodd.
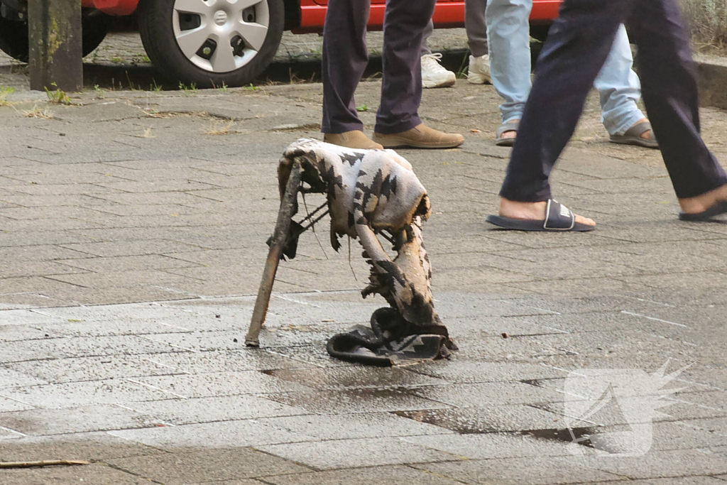
<path id="1" fill-rule="evenodd" d="M 379 89 L 358 92 L 369 130 Z M 281 265 L 262 348 L 242 343 L 276 163 L 292 140 L 320 137 L 319 84 L 9 100 L 0 460 L 92 464 L 0 470 L 1 484 L 727 481 L 727 225 L 676 220 L 659 154 L 609 144 L 595 97 L 554 188 L 598 230 L 526 234 L 484 222 L 509 153 L 492 142 L 494 90 L 424 93 L 425 121 L 467 139 L 401 151 L 430 192 L 436 306 L 460 350 L 397 369 L 326 354 L 329 336 L 384 304 L 361 299 L 358 243 L 337 254 L 326 224 Z M 727 113 L 702 119 L 726 163 Z M 691 366 L 667 385 L 679 390 L 651 451 L 571 454 L 569 371 L 651 374 L 667 360 Z"/>

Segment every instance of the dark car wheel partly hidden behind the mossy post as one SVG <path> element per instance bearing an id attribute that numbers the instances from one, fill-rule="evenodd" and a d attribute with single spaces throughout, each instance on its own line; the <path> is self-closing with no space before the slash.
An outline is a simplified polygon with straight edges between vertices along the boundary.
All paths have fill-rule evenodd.
<path id="1" fill-rule="evenodd" d="M 111 18 L 98 10 L 84 9 L 81 18 L 83 32 L 83 55 L 86 57 L 101 44 L 108 33 Z M 20 62 L 27 63 L 30 53 L 28 47 L 27 20 L 8 20 L 0 17 L 0 50 Z"/>

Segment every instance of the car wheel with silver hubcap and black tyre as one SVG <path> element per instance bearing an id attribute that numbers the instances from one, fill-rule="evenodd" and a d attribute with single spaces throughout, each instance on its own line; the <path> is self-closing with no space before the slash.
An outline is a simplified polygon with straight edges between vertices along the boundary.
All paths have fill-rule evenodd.
<path id="1" fill-rule="evenodd" d="M 165 76 L 214 87 L 249 84 L 283 36 L 283 0 L 142 0 L 139 32 Z"/>

